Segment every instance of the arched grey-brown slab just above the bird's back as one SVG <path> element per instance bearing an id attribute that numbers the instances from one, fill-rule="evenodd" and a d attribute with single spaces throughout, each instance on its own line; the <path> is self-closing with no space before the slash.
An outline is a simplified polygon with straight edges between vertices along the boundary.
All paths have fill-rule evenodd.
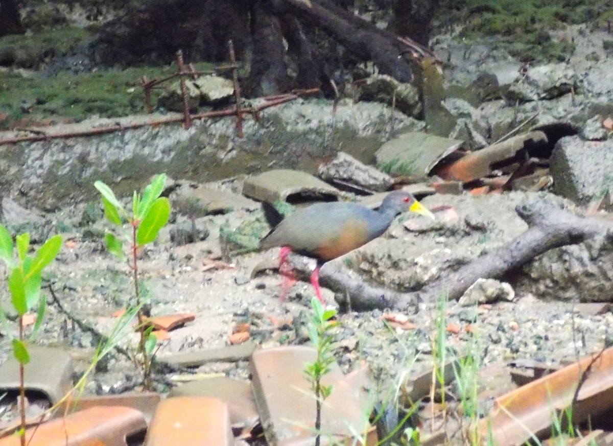
<path id="1" fill-rule="evenodd" d="M 262 202 L 300 202 L 308 199 L 335 201 L 340 191 L 306 172 L 275 169 L 249 176 L 243 194 Z"/>

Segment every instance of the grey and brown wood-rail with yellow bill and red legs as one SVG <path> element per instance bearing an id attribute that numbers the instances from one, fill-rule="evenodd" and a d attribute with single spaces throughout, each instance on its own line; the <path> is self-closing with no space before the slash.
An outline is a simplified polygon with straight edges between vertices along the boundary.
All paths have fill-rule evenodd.
<path id="1" fill-rule="evenodd" d="M 283 218 L 270 203 L 262 203 L 264 215 L 273 229 L 260 241 L 260 248 L 281 246 L 283 271 L 291 251 L 317 260 L 311 284 L 324 303 L 319 287 L 319 268 L 329 260 L 374 240 L 383 234 L 394 218 L 411 211 L 434 218 L 413 195 L 404 191 L 387 194 L 378 210 L 357 203 L 316 203 Z"/>

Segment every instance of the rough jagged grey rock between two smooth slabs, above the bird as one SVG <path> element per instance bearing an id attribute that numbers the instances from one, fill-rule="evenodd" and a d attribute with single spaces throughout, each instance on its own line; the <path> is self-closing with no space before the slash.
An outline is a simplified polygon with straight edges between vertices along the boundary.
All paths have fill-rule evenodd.
<path id="1" fill-rule="evenodd" d="M 319 166 L 318 173 L 322 180 L 340 180 L 375 192 L 387 191 L 393 183 L 392 177 L 387 173 L 362 164 L 345 152 L 339 152 L 335 159 Z"/>

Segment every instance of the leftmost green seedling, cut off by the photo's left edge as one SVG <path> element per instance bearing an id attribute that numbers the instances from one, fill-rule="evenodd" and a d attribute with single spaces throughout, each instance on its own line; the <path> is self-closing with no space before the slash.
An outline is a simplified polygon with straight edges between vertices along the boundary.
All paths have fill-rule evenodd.
<path id="1" fill-rule="evenodd" d="M 14 251 L 17 248 L 17 259 L 14 257 Z M 47 308 L 47 300 L 40 293 L 40 285 L 42 283 L 42 271 L 47 267 L 62 248 L 62 238 L 59 235 L 49 238 L 43 246 L 34 254 L 28 254 L 30 249 L 29 233 L 22 233 L 13 238 L 9 231 L 3 225 L 0 225 L 0 259 L 6 263 L 9 270 L 9 293 L 11 303 L 18 314 L 19 332 L 17 337 L 13 337 L 13 355 L 19 363 L 19 411 L 20 411 L 20 429 L 18 435 L 20 437 L 21 446 L 26 444 L 26 388 L 25 388 L 25 365 L 30 361 L 28 352 L 28 344 L 25 339 L 23 316 L 28 311 L 36 311 L 37 318 L 34 328 L 30 333 L 30 338 L 36 335 L 45 317 L 45 309 Z M 3 322 L 6 321 L 6 316 L 2 313 Z"/>

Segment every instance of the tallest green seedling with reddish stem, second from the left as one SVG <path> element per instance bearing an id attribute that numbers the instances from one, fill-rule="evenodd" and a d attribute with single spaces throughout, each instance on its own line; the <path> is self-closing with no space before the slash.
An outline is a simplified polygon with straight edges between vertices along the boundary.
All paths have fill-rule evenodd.
<path id="1" fill-rule="evenodd" d="M 129 243 L 130 246 L 131 259 L 129 263 L 133 274 L 136 306 L 139 308 L 139 311 L 137 311 L 140 334 L 138 351 L 145 390 L 153 390 L 151 357 L 156 346 L 156 338 L 151 333 L 153 327 L 147 328 L 145 326 L 147 315 L 143 311 L 142 293 L 139 287 L 138 252 L 146 244 L 157 240 L 159 230 L 167 224 L 170 217 L 170 201 L 166 197 L 160 197 L 162 191 L 164 191 L 165 184 L 166 174 L 162 173 L 153 178 L 151 183 L 145 187 L 142 195 L 134 191 L 132 212 L 128 213 L 109 186 L 102 183 L 102 181 L 94 183 L 96 189 L 102 194 L 104 215 L 114 225 L 115 230 L 120 230 L 123 233 L 123 240 Z M 126 226 L 129 228 L 128 231 L 125 230 Z M 114 232 L 107 232 L 104 236 L 104 241 L 110 253 L 121 260 L 126 258 L 123 251 L 124 244 L 122 238 L 118 238 Z"/>

